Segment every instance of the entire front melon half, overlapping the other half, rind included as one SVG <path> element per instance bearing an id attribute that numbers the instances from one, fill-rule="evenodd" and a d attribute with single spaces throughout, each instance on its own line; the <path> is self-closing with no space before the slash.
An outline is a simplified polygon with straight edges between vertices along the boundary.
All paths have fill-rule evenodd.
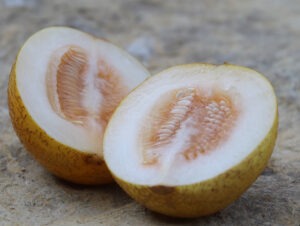
<path id="1" fill-rule="evenodd" d="M 104 135 L 104 159 L 117 183 L 149 209 L 209 215 L 265 168 L 277 124 L 273 88 L 259 73 L 229 64 L 177 66 L 122 101 Z"/>

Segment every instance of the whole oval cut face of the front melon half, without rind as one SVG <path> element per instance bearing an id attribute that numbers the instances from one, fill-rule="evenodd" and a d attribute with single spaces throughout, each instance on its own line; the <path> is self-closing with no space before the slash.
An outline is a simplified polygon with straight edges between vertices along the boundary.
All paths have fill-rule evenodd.
<path id="1" fill-rule="evenodd" d="M 276 112 L 271 85 L 255 71 L 174 67 L 148 79 L 117 108 L 105 133 L 104 157 L 113 175 L 128 183 L 197 183 L 254 151 Z"/>

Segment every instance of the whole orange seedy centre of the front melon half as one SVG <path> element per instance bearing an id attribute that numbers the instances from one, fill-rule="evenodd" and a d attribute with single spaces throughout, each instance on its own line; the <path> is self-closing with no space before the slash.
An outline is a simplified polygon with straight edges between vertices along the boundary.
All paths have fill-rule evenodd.
<path id="1" fill-rule="evenodd" d="M 166 94 L 153 112 L 150 123 L 143 128 L 145 165 L 159 164 L 163 156 L 170 154 L 166 153 L 168 147 L 179 139 L 184 144 L 176 146 L 179 151 L 175 158 L 192 161 L 213 151 L 228 139 L 238 118 L 238 110 L 226 92 L 216 90 L 207 95 L 194 87 Z"/>

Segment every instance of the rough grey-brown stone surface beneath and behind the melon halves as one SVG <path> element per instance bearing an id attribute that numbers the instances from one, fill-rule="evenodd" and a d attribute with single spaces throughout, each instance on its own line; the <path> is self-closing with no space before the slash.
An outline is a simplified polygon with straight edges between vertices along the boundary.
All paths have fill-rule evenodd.
<path id="1" fill-rule="evenodd" d="M 152 72 L 191 62 L 249 66 L 273 83 L 280 128 L 268 167 L 210 217 L 179 220 L 117 185 L 85 187 L 46 172 L 16 137 L 7 109 L 11 65 L 24 41 L 66 25 L 127 48 Z M 0 225 L 300 224 L 300 4 L 297 0 L 0 0 Z M 255 107 L 255 106 L 253 106 Z"/>

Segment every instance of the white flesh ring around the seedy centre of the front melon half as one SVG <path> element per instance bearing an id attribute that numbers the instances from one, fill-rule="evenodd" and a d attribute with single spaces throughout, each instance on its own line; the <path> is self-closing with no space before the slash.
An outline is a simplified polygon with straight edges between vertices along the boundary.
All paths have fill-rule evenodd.
<path id="1" fill-rule="evenodd" d="M 213 90 L 226 93 L 238 111 L 229 137 L 213 150 L 185 161 L 174 157 L 182 152 L 188 137 L 186 131 L 179 131 L 176 141 L 162 148 L 161 152 L 169 154 L 162 154 L 160 164 L 145 164 L 143 134 L 148 128 L 145 125 L 155 121 L 157 103 L 163 102 L 168 92 L 187 88 L 208 96 Z M 104 158 L 113 175 L 133 184 L 174 186 L 207 180 L 237 165 L 256 149 L 273 125 L 276 106 L 270 83 L 251 69 L 228 64 L 173 67 L 149 78 L 122 101 L 105 132 Z"/>

